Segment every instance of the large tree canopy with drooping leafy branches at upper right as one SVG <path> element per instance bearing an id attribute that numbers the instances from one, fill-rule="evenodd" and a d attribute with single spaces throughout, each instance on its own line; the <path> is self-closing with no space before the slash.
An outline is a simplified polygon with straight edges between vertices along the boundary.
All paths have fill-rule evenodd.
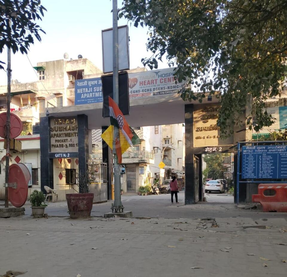
<path id="1" fill-rule="evenodd" d="M 119 17 L 147 26 L 153 55 L 142 62 L 153 69 L 166 57 L 176 65 L 177 80 L 190 84 L 182 99 L 201 102 L 220 91 L 223 135 L 240 122 L 247 100 L 249 128 L 272 125 L 266 99 L 286 86 L 286 0 L 123 0 Z"/>

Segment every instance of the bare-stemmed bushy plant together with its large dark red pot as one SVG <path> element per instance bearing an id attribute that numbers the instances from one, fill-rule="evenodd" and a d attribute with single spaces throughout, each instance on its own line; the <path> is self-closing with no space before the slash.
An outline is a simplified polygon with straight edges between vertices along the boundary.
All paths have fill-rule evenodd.
<path id="1" fill-rule="evenodd" d="M 76 180 L 79 192 L 66 194 L 68 213 L 71 218 L 90 217 L 94 199 L 94 193 L 89 193 L 91 184 L 90 172 L 88 170 L 85 172 L 79 170 Z"/>

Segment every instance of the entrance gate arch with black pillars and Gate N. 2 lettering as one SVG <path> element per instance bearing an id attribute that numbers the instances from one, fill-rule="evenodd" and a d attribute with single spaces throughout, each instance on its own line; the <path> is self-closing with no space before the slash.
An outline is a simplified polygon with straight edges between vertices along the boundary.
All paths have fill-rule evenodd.
<path id="1" fill-rule="evenodd" d="M 49 114 L 41 114 L 41 184 L 54 187 L 53 161 L 54 158 L 67 158 L 65 153 L 51 153 L 50 119 L 75 117 L 78 120 L 78 146 L 70 157 L 77 158 L 79 169 L 88 168 L 88 157 L 91 153 L 91 130 L 104 130 L 109 125 L 109 119 L 102 117 L 102 103 L 83 104 L 49 108 Z M 163 94 L 159 97 L 130 99 L 130 115 L 127 122 L 132 127 L 167 125 L 185 123 L 185 204 L 195 204 L 202 200 L 202 162 L 201 155 L 214 152 L 234 152 L 234 168 L 237 166 L 237 154 L 234 146 L 238 141 L 246 141 L 248 132 L 245 125 L 245 113 L 242 113 L 242 124 L 234 126 L 234 136 L 227 140 L 220 138 L 220 130 L 216 126 L 220 109 L 219 99 L 215 96 L 212 101 L 203 99 L 202 103 L 184 102 L 177 93 Z M 174 111 L 170 113 L 170 111 Z M 251 136 L 251 132 L 250 132 Z M 235 148 L 236 149 L 236 148 Z M 55 156 L 55 155 L 58 156 Z M 61 155 L 61 156 L 59 156 Z M 197 158 L 196 158 L 197 157 Z M 112 157 L 108 146 L 103 143 L 103 161 L 107 162 L 108 199 L 112 196 Z M 234 180 L 236 190 L 236 176 Z M 57 185 L 57 183 L 55 183 Z M 44 188 L 43 188 L 44 189 Z M 244 186 L 240 192 L 244 197 Z M 240 199 L 239 199 L 240 200 Z M 235 197 L 236 201 L 236 197 Z M 242 201 L 244 199 L 242 198 Z"/>

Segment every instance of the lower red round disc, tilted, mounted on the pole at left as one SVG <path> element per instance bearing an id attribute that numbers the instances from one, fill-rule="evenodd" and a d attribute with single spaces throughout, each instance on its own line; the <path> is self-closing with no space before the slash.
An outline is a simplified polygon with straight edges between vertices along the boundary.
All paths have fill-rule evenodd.
<path id="1" fill-rule="evenodd" d="M 8 188 L 8 199 L 15 207 L 22 207 L 28 197 L 28 182 L 31 178 L 25 164 L 11 164 L 9 166 L 9 184 L 16 183 L 17 187 Z"/>

